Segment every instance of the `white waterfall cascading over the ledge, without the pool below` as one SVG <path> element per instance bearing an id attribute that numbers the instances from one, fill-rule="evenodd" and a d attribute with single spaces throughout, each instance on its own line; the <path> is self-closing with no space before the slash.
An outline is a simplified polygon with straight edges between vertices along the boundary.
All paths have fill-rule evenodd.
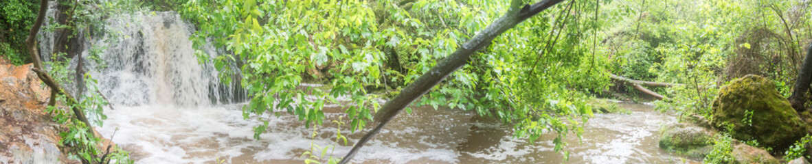
<path id="1" fill-rule="evenodd" d="M 54 7 L 51 9 L 49 15 L 53 15 Z M 194 27 L 177 13 L 115 15 L 106 20 L 106 28 L 115 33 L 93 38 L 93 43 L 86 40 L 82 58 L 85 70 L 98 80 L 99 89 L 110 103 L 200 107 L 244 101 L 239 77 L 231 84 L 222 84 L 210 61 L 198 62 L 189 40 Z M 53 33 L 41 34 L 43 58 L 50 58 Z M 89 59 L 93 47 L 102 47 L 99 57 L 106 67 L 96 69 Z M 204 47 L 199 51 L 205 55 L 223 53 L 210 44 Z M 78 57 L 71 59 L 71 67 L 77 63 Z"/>

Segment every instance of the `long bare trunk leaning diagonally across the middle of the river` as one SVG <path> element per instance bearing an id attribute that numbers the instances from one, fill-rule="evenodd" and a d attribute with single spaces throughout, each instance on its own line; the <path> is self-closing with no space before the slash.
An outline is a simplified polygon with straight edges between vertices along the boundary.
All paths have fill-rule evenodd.
<path id="1" fill-rule="evenodd" d="M 448 77 L 448 75 L 456 71 L 456 69 L 460 69 L 460 67 L 468 62 L 469 57 L 471 57 L 473 53 L 485 47 L 486 44 L 490 44 L 490 41 L 494 40 L 496 36 L 501 35 L 503 32 L 508 31 L 508 29 L 515 27 L 516 24 L 562 1 L 563 0 L 544 0 L 533 4 L 533 6 L 522 6 L 522 0 L 513 0 L 508 9 L 508 13 L 502 16 L 502 18 L 497 19 L 481 32 L 478 32 L 477 36 L 473 36 L 471 40 L 462 44 L 460 48 L 443 59 L 443 61 L 440 61 L 438 65 L 430 69 L 429 72 L 421 75 L 417 81 L 412 82 L 412 84 L 409 84 L 405 89 L 401 90 L 400 94 L 395 96 L 395 99 L 391 99 L 385 103 L 383 107 L 375 113 L 375 122 L 378 123 L 378 125 L 367 132 L 364 137 L 361 137 L 361 140 L 352 147 L 350 152 L 347 153 L 339 163 L 343 164 L 349 162 L 352 157 L 355 156 L 355 153 L 358 152 L 358 149 L 361 149 L 361 146 L 380 132 L 384 125 L 397 116 L 400 111 L 403 111 L 404 107 L 422 95 L 425 95 L 426 92 L 431 90 L 434 86 L 437 86 L 439 82 L 443 81 L 444 78 Z"/>

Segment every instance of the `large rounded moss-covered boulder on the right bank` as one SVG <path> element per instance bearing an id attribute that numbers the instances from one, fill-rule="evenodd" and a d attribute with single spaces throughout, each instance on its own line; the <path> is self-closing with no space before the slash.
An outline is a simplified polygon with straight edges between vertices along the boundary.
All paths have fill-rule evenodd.
<path id="1" fill-rule="evenodd" d="M 747 75 L 719 90 L 713 102 L 711 124 L 732 137 L 756 140 L 763 146 L 785 149 L 806 134 L 806 124 L 775 90 L 775 83 L 758 75 Z"/>

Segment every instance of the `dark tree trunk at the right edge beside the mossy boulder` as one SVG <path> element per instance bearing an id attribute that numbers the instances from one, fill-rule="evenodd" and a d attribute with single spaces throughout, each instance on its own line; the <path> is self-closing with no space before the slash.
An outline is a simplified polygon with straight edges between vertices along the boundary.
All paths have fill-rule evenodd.
<path id="1" fill-rule="evenodd" d="M 801 69 L 798 69 L 798 78 L 795 81 L 793 95 L 789 96 L 789 103 L 793 105 L 795 111 L 805 111 L 806 90 L 810 89 L 810 78 L 812 78 L 812 43 L 806 48 L 806 57 Z"/>

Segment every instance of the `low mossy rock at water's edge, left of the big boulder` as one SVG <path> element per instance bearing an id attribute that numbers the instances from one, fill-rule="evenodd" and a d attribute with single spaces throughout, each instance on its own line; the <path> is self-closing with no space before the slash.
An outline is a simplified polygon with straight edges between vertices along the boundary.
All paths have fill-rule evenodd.
<path id="1" fill-rule="evenodd" d="M 663 128 L 659 146 L 689 158 L 702 159 L 711 152 L 714 132 L 693 124 L 672 124 Z"/>

